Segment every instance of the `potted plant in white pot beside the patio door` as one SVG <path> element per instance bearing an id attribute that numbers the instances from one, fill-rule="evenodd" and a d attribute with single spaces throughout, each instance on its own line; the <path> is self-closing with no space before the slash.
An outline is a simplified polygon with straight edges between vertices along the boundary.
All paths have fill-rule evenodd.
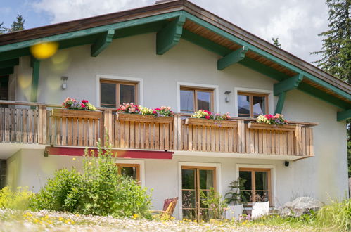
<path id="1" fill-rule="evenodd" d="M 246 197 L 250 193 L 245 192 L 244 184 L 246 180 L 238 177 L 236 181 L 232 181 L 229 185 L 230 191 L 224 195 L 228 202 L 229 210 L 226 212 L 226 219 L 239 219 L 243 214 L 243 205 L 247 202 Z"/>

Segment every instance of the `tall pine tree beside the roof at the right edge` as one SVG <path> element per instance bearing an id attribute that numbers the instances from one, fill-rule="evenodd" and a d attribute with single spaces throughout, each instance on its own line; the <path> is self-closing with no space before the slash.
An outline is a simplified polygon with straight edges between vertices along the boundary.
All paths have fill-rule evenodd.
<path id="1" fill-rule="evenodd" d="M 329 30 L 321 32 L 321 51 L 312 52 L 321 56 L 315 61 L 318 67 L 351 84 L 351 0 L 326 0 L 329 8 Z"/>

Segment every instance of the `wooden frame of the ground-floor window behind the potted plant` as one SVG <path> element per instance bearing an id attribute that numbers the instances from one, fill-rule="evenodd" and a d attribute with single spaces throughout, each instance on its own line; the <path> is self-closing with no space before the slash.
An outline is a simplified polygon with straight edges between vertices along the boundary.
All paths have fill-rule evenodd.
<path id="1" fill-rule="evenodd" d="M 256 194 L 256 176 L 255 172 L 267 172 L 267 179 L 268 179 L 268 201 L 269 201 L 269 206 L 273 205 L 272 202 L 272 169 L 269 168 L 255 168 L 255 167 L 239 167 L 238 168 L 238 177 L 240 178 L 240 172 L 251 172 L 251 190 L 250 189 L 245 189 L 242 191 L 250 191 L 252 195 Z M 258 190 L 262 191 L 262 190 Z M 253 198 L 252 202 L 248 202 L 248 205 L 253 205 L 255 202 L 255 198 Z"/>

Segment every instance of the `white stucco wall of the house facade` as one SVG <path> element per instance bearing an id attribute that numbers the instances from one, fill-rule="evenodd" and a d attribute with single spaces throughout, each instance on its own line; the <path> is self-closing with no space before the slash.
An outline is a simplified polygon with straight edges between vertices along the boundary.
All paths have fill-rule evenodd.
<path id="1" fill-rule="evenodd" d="M 66 97 L 88 99 L 96 103 L 96 75 L 112 75 L 143 79 L 143 104 L 148 107 L 170 105 L 177 109 L 177 82 L 217 85 L 219 111 L 235 115 L 234 89 L 273 90 L 273 79 L 260 75 L 242 65 L 231 65 L 217 70 L 219 57 L 200 46 L 181 39 L 177 46 L 162 56 L 155 54 L 155 34 L 113 40 L 98 57 L 90 56 L 90 46 L 63 49 L 41 63 L 38 101 L 60 104 Z M 17 74 L 16 100 L 27 101 L 30 96 L 30 59 L 21 58 Z M 61 76 L 68 77 L 68 89 L 61 89 Z M 224 101 L 224 91 L 231 91 L 229 103 Z M 276 104 L 274 98 L 274 105 Z M 156 208 L 162 200 L 177 194 L 177 162 L 220 162 L 222 188 L 236 178 L 236 164 L 276 165 L 276 206 L 298 195 L 309 195 L 319 200 L 343 198 L 347 194 L 347 151 L 345 122 L 336 121 L 337 108 L 309 96 L 302 91 L 289 91 L 283 115 L 288 120 L 319 122 L 314 127 L 314 157 L 290 162 L 283 166 L 281 160 L 250 160 L 236 158 L 178 157 L 173 160 L 146 160 L 146 186 L 155 189 Z M 271 110 L 271 113 L 273 109 Z M 27 170 L 19 181 L 37 190 L 37 176 L 50 176 L 54 169 L 71 166 L 65 157 L 30 158 L 34 151 L 22 153 L 22 169 Z M 49 160 L 53 160 L 50 161 Z M 46 163 L 49 162 L 49 165 Z M 33 165 L 33 166 L 31 166 Z M 32 169 L 31 167 L 37 167 Z M 26 172 L 24 172 L 26 173 Z M 35 177 L 33 176 L 35 175 Z M 161 177 L 162 176 L 162 177 Z M 160 182 L 160 179 L 167 181 Z"/>

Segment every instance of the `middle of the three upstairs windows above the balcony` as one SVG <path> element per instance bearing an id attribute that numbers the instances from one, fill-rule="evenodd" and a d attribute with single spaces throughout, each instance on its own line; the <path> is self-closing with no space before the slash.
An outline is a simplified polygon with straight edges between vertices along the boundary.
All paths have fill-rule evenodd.
<path id="1" fill-rule="evenodd" d="M 197 110 L 213 110 L 213 90 L 181 87 L 180 111 L 192 113 Z"/>

